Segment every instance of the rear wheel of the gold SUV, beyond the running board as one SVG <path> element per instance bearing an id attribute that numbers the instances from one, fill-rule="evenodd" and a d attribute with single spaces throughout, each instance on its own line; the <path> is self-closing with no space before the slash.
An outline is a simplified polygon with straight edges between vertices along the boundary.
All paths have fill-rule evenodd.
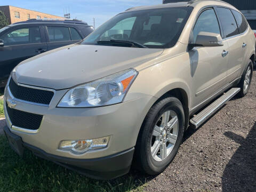
<path id="1" fill-rule="evenodd" d="M 241 81 L 239 82 L 238 85 L 238 87 L 241 88 L 241 91 L 238 93 L 240 97 L 244 97 L 248 93 L 252 82 L 252 74 L 253 63 L 251 60 L 249 60 L 247 67 L 244 69 Z"/>

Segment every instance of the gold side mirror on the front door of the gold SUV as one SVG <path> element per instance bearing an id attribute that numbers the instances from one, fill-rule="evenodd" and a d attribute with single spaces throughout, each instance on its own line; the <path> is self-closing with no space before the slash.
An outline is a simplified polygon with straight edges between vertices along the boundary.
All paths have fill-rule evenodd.
<path id="1" fill-rule="evenodd" d="M 200 32 L 197 35 L 196 43 L 193 44 L 193 46 L 214 47 L 223 46 L 223 43 L 220 34 Z"/>

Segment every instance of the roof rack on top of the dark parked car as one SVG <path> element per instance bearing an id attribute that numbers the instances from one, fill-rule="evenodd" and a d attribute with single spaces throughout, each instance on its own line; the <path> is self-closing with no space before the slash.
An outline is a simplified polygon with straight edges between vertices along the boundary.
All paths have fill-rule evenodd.
<path id="1" fill-rule="evenodd" d="M 86 22 L 77 20 L 77 19 L 29 19 L 27 21 L 20 21 L 20 22 L 15 22 L 15 24 L 20 24 L 20 23 L 31 23 L 31 22 L 58 22 L 58 23 L 74 23 L 74 24 L 79 24 L 79 25 L 88 25 Z"/>

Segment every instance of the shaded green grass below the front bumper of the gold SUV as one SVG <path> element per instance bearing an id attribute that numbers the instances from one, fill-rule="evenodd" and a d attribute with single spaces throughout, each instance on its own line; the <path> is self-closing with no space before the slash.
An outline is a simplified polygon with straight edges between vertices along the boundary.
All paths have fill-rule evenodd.
<path id="1" fill-rule="evenodd" d="M 0 135 L 0 191 L 142 191 L 144 175 L 132 171 L 124 177 L 99 181 L 34 156 L 21 158 Z"/>

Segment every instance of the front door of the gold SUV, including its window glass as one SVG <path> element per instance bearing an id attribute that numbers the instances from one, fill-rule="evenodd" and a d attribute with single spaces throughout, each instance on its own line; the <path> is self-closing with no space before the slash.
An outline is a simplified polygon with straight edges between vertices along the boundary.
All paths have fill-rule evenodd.
<path id="1" fill-rule="evenodd" d="M 194 42 L 201 32 L 221 34 L 215 11 L 204 10 L 198 17 L 193 29 Z M 191 75 L 194 79 L 194 107 L 221 90 L 227 81 L 228 44 L 216 47 L 194 47 L 189 51 L 190 62 L 193 63 Z"/>

